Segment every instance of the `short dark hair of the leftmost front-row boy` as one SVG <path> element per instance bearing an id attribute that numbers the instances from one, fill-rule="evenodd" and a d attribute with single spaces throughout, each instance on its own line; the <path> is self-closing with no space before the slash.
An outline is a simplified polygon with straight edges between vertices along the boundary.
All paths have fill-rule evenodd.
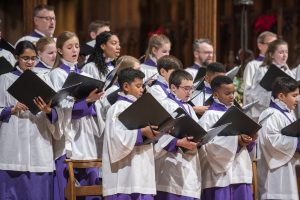
<path id="1" fill-rule="evenodd" d="M 118 74 L 118 83 L 120 85 L 120 88 L 123 89 L 124 83 L 131 84 L 134 82 L 134 79 L 143 79 L 145 77 L 145 74 L 141 72 L 140 70 L 136 70 L 133 68 L 126 68 L 122 69 L 120 73 Z"/>

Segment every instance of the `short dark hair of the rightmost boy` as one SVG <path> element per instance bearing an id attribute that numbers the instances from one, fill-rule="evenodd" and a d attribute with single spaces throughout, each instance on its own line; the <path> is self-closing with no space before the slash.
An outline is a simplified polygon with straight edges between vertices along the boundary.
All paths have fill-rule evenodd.
<path id="1" fill-rule="evenodd" d="M 299 83 L 296 80 L 289 77 L 278 77 L 272 85 L 272 96 L 277 98 L 279 93 L 287 95 L 294 92 L 298 87 Z"/>

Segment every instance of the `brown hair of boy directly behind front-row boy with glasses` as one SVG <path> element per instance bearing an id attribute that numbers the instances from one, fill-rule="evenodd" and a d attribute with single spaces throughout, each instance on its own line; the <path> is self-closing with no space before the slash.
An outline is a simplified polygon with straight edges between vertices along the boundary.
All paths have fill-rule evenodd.
<path id="1" fill-rule="evenodd" d="M 182 62 L 172 55 L 165 55 L 162 56 L 157 60 L 157 70 L 160 74 L 161 69 L 165 69 L 166 71 L 169 71 L 170 69 L 182 69 L 183 65 Z"/>

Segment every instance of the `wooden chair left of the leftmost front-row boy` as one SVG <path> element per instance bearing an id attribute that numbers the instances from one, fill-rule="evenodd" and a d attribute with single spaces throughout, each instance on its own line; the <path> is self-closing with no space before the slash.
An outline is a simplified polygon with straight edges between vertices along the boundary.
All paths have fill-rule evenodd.
<path id="1" fill-rule="evenodd" d="M 65 198 L 76 200 L 80 196 L 100 196 L 102 195 L 102 185 L 75 186 L 74 168 L 102 167 L 102 161 L 96 160 L 71 160 L 66 159 L 68 165 L 69 179 L 65 187 Z"/>

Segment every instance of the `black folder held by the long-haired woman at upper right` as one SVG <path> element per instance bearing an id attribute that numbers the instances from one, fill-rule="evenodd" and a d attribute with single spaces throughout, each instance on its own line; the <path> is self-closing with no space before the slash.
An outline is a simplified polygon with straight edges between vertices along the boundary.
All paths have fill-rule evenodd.
<path id="1" fill-rule="evenodd" d="M 259 84 L 267 91 L 272 91 L 272 85 L 275 79 L 278 77 L 287 77 L 293 79 L 291 76 L 279 69 L 277 66 L 271 64 L 267 73 L 264 75 Z"/>

